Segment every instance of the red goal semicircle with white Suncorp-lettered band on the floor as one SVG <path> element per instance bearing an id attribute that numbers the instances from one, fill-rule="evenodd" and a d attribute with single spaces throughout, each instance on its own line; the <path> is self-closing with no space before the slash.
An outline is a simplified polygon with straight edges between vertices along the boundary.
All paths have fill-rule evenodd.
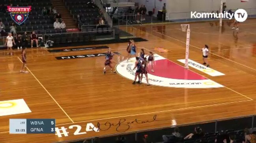
<path id="1" fill-rule="evenodd" d="M 151 72 L 150 65 L 148 66 L 148 78 L 151 85 L 163 86 L 163 87 L 176 87 L 176 88 L 219 88 L 223 87 L 219 83 L 204 78 L 203 76 L 194 73 L 184 67 L 158 55 L 155 56 L 154 70 Z M 135 58 L 130 60 L 131 62 L 122 61 L 116 65 L 116 72 L 121 76 L 134 80 L 135 71 Z M 142 83 L 146 83 L 145 77 L 142 79 Z"/>

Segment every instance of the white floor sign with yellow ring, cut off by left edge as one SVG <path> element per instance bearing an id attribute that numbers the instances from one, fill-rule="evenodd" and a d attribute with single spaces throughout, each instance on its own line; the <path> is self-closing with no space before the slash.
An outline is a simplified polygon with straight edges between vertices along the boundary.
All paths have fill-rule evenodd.
<path id="1" fill-rule="evenodd" d="M 30 113 L 23 99 L 0 101 L 0 116 Z"/>

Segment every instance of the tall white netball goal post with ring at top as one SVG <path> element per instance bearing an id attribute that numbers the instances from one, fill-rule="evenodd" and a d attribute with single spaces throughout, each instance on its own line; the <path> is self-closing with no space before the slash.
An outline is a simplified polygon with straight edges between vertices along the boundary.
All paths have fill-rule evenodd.
<path id="1" fill-rule="evenodd" d="M 186 38 L 186 55 L 185 55 L 185 69 L 189 69 L 189 40 L 190 40 L 190 29 L 189 24 L 181 24 L 181 29 L 183 32 L 187 31 Z"/>

